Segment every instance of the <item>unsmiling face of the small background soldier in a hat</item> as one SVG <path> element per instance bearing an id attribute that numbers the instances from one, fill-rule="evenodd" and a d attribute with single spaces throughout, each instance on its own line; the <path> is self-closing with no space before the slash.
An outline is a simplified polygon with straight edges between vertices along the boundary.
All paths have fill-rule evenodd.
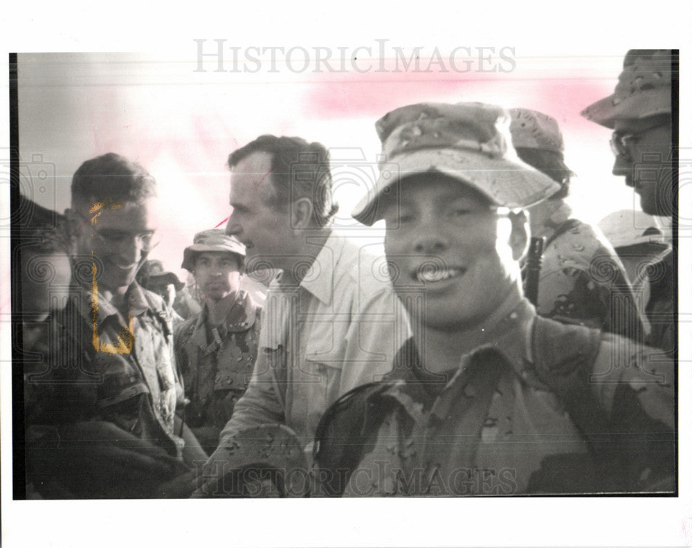
<path id="1" fill-rule="evenodd" d="M 240 287 L 240 261 L 235 253 L 203 251 L 194 261 L 194 280 L 205 298 L 221 300 Z"/>

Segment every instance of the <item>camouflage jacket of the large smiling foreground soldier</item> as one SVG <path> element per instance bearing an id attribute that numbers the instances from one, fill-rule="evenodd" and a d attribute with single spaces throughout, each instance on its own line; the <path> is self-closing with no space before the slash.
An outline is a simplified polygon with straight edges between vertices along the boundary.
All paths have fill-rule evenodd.
<path id="1" fill-rule="evenodd" d="M 325 413 L 318 495 L 671 491 L 673 366 L 523 301 L 448 374 L 402 347 Z M 530 347 L 527 345 L 531 341 Z"/>

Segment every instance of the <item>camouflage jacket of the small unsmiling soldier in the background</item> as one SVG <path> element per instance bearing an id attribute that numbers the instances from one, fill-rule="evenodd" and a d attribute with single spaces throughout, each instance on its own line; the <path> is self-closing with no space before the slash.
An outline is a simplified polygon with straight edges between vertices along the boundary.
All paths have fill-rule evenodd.
<path id="1" fill-rule="evenodd" d="M 216 447 L 221 428 L 250 381 L 262 308 L 240 291 L 223 325 L 210 327 L 208 308 L 176 327 L 176 361 L 185 385 L 185 423 L 203 448 Z"/>

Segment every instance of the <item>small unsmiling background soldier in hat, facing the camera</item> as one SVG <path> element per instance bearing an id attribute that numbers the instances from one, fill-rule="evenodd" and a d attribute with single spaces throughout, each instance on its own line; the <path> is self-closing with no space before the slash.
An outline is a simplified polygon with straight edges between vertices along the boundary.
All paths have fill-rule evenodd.
<path id="1" fill-rule="evenodd" d="M 185 248 L 182 267 L 203 295 L 200 313 L 176 328 L 176 360 L 190 403 L 185 423 L 211 454 L 245 392 L 257 358 L 262 308 L 240 289 L 245 246 L 224 230 L 204 230 Z"/>

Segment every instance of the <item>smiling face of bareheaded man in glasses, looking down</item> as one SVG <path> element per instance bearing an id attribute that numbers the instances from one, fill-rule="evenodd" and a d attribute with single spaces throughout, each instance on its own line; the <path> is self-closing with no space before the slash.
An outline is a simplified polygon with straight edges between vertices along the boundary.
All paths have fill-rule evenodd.
<path id="1" fill-rule="evenodd" d="M 91 221 L 90 221 L 91 219 Z M 156 232 L 154 199 L 126 201 L 102 208 L 92 217 L 80 214 L 75 244 L 82 258 L 93 257 L 98 288 L 122 293 L 147 259 Z"/>

